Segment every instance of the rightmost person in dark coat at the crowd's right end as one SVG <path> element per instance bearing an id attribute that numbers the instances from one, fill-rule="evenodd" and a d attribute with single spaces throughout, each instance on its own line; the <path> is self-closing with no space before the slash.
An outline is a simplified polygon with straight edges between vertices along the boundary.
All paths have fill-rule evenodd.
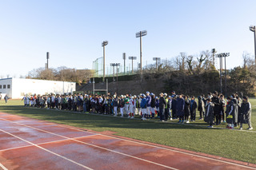
<path id="1" fill-rule="evenodd" d="M 242 124 L 248 124 L 247 130 L 252 130 L 253 127 L 251 126 L 251 105 L 249 102 L 248 97 L 242 97 L 242 105 L 240 109 L 240 130 L 242 130 Z"/>

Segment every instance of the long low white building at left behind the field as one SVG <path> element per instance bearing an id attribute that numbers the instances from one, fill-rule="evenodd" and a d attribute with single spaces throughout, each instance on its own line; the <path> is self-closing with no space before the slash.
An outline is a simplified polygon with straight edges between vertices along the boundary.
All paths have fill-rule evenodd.
<path id="1" fill-rule="evenodd" d="M 46 81 L 25 78 L 0 79 L 0 93 L 6 93 L 8 97 L 13 99 L 20 99 L 26 94 L 64 94 L 73 93 L 75 90 L 75 82 Z"/>

